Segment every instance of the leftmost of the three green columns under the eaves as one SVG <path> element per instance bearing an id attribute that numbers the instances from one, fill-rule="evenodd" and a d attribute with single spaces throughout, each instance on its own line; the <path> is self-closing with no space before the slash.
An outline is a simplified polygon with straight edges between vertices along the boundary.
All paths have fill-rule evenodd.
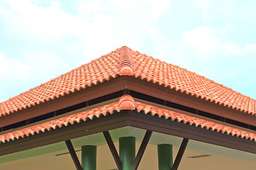
<path id="1" fill-rule="evenodd" d="M 92 145 L 82 146 L 82 169 L 96 170 L 97 147 Z"/>

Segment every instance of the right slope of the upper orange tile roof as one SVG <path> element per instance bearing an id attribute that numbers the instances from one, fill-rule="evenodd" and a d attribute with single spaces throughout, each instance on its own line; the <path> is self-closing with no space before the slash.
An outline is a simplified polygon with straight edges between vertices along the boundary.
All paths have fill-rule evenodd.
<path id="1" fill-rule="evenodd" d="M 134 77 L 233 109 L 256 113 L 256 100 L 186 69 L 132 51 Z M 142 67 L 143 66 L 143 67 Z"/>

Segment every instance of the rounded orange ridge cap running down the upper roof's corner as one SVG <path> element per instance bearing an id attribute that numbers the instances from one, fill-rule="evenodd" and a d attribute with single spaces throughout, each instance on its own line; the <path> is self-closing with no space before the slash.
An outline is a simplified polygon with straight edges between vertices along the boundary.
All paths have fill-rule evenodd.
<path id="1" fill-rule="evenodd" d="M 120 76 L 134 75 L 134 69 L 132 67 L 131 49 L 129 49 L 129 47 L 126 47 L 126 46 L 123 46 L 120 48 L 119 75 Z"/>

